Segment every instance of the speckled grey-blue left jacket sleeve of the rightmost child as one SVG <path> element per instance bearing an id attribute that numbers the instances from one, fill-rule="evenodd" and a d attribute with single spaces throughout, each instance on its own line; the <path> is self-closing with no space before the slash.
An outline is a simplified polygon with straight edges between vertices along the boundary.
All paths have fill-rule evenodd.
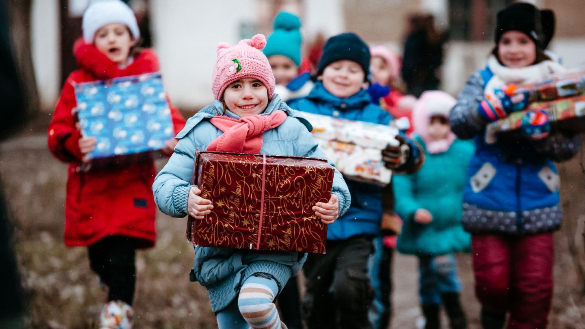
<path id="1" fill-rule="evenodd" d="M 472 74 L 457 97 L 457 104 L 449 113 L 451 130 L 461 139 L 473 138 L 487 125 L 477 110 L 483 99 L 483 85 L 480 71 Z"/>

